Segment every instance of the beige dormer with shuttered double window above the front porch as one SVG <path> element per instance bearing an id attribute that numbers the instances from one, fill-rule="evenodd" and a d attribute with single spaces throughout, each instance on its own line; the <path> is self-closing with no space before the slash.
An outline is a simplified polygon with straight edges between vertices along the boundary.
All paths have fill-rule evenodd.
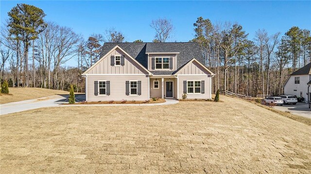
<path id="1" fill-rule="evenodd" d="M 179 52 L 146 52 L 149 71 L 175 71 Z"/>

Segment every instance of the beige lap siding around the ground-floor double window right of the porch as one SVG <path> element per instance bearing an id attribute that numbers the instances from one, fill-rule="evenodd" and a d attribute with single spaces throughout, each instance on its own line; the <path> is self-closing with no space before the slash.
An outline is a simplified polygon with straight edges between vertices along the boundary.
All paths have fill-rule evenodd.
<path id="1" fill-rule="evenodd" d="M 194 99 L 194 98 L 211 98 L 210 96 L 210 77 L 204 76 L 204 75 L 179 75 L 178 76 L 178 98 L 182 98 L 183 95 L 183 81 L 187 80 L 187 81 L 201 81 L 201 80 L 205 80 L 205 94 L 187 94 L 187 98 L 189 99 Z"/>

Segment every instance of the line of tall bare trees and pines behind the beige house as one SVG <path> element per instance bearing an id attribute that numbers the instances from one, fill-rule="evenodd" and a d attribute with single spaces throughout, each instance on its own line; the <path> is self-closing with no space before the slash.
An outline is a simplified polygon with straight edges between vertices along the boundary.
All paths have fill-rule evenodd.
<path id="1" fill-rule="evenodd" d="M 100 59 L 104 42 L 126 42 L 115 28 L 84 40 L 71 28 L 45 21 L 43 10 L 28 4 L 17 4 L 8 16 L 1 26 L 0 71 L 10 87 L 69 90 L 74 84 L 76 92 L 83 92 L 81 74 Z M 174 31 L 165 18 L 152 20 L 150 27 L 155 30 L 153 42 L 166 42 Z M 292 27 L 281 35 L 259 29 L 249 39 L 238 23 L 198 17 L 193 27 L 189 42 L 199 43 L 206 66 L 216 74 L 213 93 L 220 89 L 253 96 L 282 94 L 287 76 L 311 62 L 310 30 Z M 65 65 L 70 59 L 76 67 Z"/>

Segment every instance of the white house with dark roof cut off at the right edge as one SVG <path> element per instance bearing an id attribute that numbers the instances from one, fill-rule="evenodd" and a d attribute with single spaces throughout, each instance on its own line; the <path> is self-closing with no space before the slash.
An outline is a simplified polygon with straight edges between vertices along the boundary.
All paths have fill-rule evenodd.
<path id="1" fill-rule="evenodd" d="M 311 63 L 292 73 L 284 83 L 285 95 L 297 95 L 305 98 L 304 102 L 311 100 Z"/>

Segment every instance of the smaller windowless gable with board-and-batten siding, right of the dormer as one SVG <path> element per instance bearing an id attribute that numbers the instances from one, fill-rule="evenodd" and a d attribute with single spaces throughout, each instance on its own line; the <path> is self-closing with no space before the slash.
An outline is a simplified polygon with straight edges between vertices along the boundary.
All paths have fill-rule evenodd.
<path id="1" fill-rule="evenodd" d="M 197 60 L 192 59 L 190 62 L 183 65 L 179 70 L 177 70 L 174 74 L 209 74 L 214 75 L 210 72 L 204 65 L 199 63 Z"/>

